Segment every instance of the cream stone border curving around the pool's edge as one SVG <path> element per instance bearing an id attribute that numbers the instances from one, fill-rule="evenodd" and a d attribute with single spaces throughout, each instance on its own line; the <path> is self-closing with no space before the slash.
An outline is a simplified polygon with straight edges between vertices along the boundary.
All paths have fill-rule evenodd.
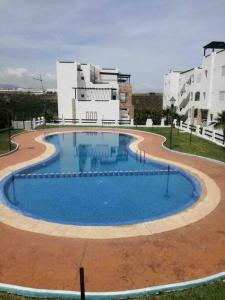
<path id="1" fill-rule="evenodd" d="M 90 130 L 79 130 L 79 132 L 89 132 Z M 109 132 L 106 130 L 99 130 L 100 132 Z M 67 131 L 57 131 L 51 132 L 48 135 L 76 132 L 76 130 L 71 129 Z M 130 149 L 134 152 L 139 150 L 138 145 L 144 140 L 143 137 L 136 135 L 135 133 L 128 133 L 123 130 L 113 130 L 112 133 L 122 133 L 128 134 L 136 138 L 129 146 Z M 39 143 L 45 145 L 46 150 L 43 154 L 36 157 L 35 159 L 23 162 L 17 165 L 14 165 L 11 168 L 14 171 L 18 171 L 22 167 L 28 167 L 38 162 L 43 162 L 45 159 L 50 159 L 51 156 L 55 153 L 55 147 L 53 144 L 46 142 L 45 134 L 39 135 L 35 140 Z M 202 173 L 201 171 L 194 169 L 190 166 L 173 162 L 171 160 L 165 160 L 157 156 L 150 155 L 146 153 L 146 156 L 150 159 L 161 161 L 164 163 L 173 164 L 178 166 L 187 172 L 191 173 L 192 176 L 196 177 L 202 186 L 202 195 L 197 202 L 186 210 L 179 212 L 175 215 L 165 217 L 155 221 L 149 221 L 144 223 L 138 223 L 134 225 L 121 225 L 121 226 L 76 226 L 76 225 L 63 225 L 57 223 L 51 223 L 43 221 L 40 219 L 33 219 L 26 217 L 17 213 L 16 211 L 8 208 L 2 202 L 0 203 L 0 221 L 10 225 L 12 227 L 53 236 L 60 237 L 71 237 L 71 238 L 90 238 L 90 239 L 112 239 L 112 238 L 128 238 L 128 237 L 137 237 L 152 235 L 156 233 L 162 233 L 174 229 L 181 228 L 183 226 L 190 225 L 194 222 L 199 221 L 203 217 L 207 216 L 211 211 L 213 211 L 220 202 L 220 189 L 209 176 Z M 4 169 L 7 170 L 8 168 Z M 3 171 L 4 171 L 3 170 Z M 3 176 L 7 176 L 6 174 Z M 1 172 L 0 172 L 1 179 Z M 2 178 L 3 179 L 3 178 Z"/>

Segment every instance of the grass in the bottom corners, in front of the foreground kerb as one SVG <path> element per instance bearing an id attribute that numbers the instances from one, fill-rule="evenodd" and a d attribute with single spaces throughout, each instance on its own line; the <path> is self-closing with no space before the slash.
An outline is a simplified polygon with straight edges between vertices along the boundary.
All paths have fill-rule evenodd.
<path id="1" fill-rule="evenodd" d="M 33 298 L 0 294 L 0 300 L 26 300 Z M 41 298 L 39 298 L 41 299 Z M 44 298 L 42 298 L 44 299 Z M 135 300 L 222 300 L 225 299 L 225 283 L 223 281 L 181 292 L 162 293 L 158 296 L 136 298 Z"/>

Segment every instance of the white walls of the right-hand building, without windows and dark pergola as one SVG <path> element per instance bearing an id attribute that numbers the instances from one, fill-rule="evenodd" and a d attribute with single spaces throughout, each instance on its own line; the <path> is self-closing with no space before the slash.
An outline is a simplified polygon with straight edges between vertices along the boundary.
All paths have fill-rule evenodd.
<path id="1" fill-rule="evenodd" d="M 201 67 L 180 73 L 169 72 L 164 76 L 163 107 L 169 105 L 171 96 L 176 99 L 178 94 L 175 106 L 177 106 L 179 114 L 188 115 L 188 121 L 191 122 L 195 109 L 209 110 L 207 119 L 209 124 L 219 112 L 225 110 L 225 100 L 220 100 L 219 97 L 220 91 L 225 91 L 225 75 L 222 76 L 222 66 L 225 66 L 224 50 L 212 52 L 203 57 Z M 177 81 L 179 81 L 178 88 Z M 195 101 L 197 92 L 200 92 L 199 101 Z M 185 108 L 180 110 L 182 101 L 188 95 L 190 95 L 190 101 Z"/>

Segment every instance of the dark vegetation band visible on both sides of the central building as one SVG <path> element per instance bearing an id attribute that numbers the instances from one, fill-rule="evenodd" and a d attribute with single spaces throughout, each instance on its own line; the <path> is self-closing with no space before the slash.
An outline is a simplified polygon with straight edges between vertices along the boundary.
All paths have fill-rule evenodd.
<path id="1" fill-rule="evenodd" d="M 147 118 L 159 125 L 161 118 L 170 121 L 170 110 L 163 111 L 163 97 L 160 93 L 133 94 L 134 124 L 145 125 Z M 46 103 L 46 109 L 45 109 Z M 31 120 L 46 112 L 46 120 L 57 117 L 57 94 L 35 95 L 24 92 L 0 93 L 0 129 L 8 126 L 8 114 L 14 120 Z M 176 116 L 174 115 L 174 118 Z"/>

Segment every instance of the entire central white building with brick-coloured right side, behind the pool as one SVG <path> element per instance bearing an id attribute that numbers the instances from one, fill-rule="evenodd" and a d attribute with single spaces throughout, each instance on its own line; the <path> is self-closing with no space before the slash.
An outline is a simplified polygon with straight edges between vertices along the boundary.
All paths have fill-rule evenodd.
<path id="1" fill-rule="evenodd" d="M 130 75 L 75 61 L 57 62 L 58 116 L 83 120 L 133 118 Z"/>

